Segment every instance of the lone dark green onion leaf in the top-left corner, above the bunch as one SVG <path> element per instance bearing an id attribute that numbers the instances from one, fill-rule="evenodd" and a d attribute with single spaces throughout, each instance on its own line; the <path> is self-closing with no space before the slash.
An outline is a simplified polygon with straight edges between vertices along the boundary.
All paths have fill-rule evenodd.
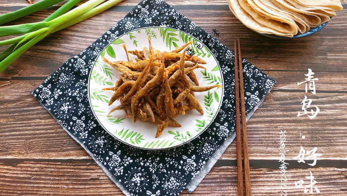
<path id="1" fill-rule="evenodd" d="M 34 12 L 46 9 L 63 1 L 64 0 L 42 0 L 38 3 L 19 9 L 15 12 L 4 14 L 0 16 L 0 25 L 22 18 Z"/>

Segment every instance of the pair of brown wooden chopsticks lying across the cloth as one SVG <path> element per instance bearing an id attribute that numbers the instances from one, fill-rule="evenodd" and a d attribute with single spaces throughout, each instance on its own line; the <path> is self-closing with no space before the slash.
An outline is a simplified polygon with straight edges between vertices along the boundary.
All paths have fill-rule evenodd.
<path id="1" fill-rule="evenodd" d="M 238 47 L 236 44 L 238 42 Z M 250 176 L 248 160 L 248 143 L 246 130 L 246 111 L 244 106 L 243 74 L 240 40 L 235 39 L 235 108 L 236 108 L 236 155 L 237 155 L 237 195 L 243 196 L 243 177 L 242 177 L 242 152 L 241 152 L 241 130 L 240 130 L 240 103 L 241 102 L 241 120 L 242 120 L 242 140 L 243 140 L 243 164 L 244 164 L 244 184 L 245 195 L 250 196 Z M 237 59 L 238 54 L 238 59 Z M 238 87 L 240 80 L 240 88 Z M 240 97 L 239 97 L 240 94 Z"/>

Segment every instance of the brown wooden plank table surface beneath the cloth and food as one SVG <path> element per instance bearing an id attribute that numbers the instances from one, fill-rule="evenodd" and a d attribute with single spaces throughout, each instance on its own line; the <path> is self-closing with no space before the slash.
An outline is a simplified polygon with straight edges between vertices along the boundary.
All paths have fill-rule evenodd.
<path id="1" fill-rule="evenodd" d="M 38 0 L 36 0 L 37 2 Z M 337 13 L 316 34 L 295 40 L 258 35 L 239 22 L 226 1 L 167 0 L 229 48 L 240 38 L 243 56 L 277 80 L 261 108 L 247 124 L 253 195 L 305 195 L 295 181 L 309 184 L 310 171 L 322 195 L 347 195 L 347 11 Z M 347 8 L 347 1 L 341 0 Z M 139 0 L 118 6 L 49 35 L 0 74 L 1 195 L 123 195 L 94 160 L 40 106 L 31 91 L 61 64 L 92 44 L 122 19 Z M 0 0 L 0 14 L 27 6 L 26 0 Z M 10 24 L 41 21 L 57 6 Z M 98 24 L 98 25 L 96 25 Z M 5 47 L 0 47 L 4 51 Z M 311 68 L 316 94 L 306 93 Z M 320 108 L 316 118 L 297 117 L 304 96 Z M 286 130 L 287 188 L 281 188 L 280 132 Z M 302 138 L 305 136 L 305 139 Z M 236 195 L 236 148 L 233 142 L 189 195 Z M 294 159 L 300 147 L 322 154 L 317 164 Z M 316 193 L 314 191 L 314 193 Z M 181 195 L 187 195 L 185 190 Z M 308 193 L 309 194 L 309 193 Z"/>

